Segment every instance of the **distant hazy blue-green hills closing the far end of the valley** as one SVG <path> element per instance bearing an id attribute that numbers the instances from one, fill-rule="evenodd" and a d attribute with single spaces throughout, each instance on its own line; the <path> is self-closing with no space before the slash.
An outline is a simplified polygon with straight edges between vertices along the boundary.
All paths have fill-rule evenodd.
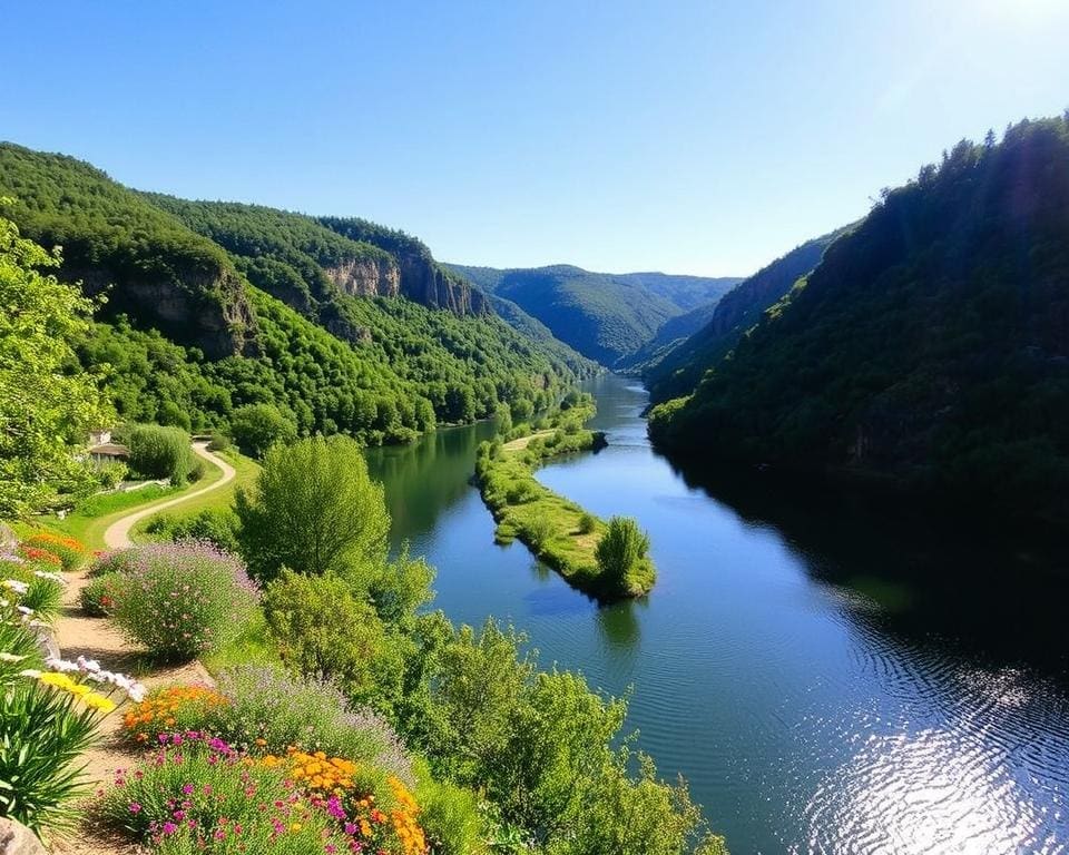
<path id="1" fill-rule="evenodd" d="M 484 292 L 517 304 L 556 337 L 610 367 L 651 341 L 669 318 L 719 299 L 739 282 L 661 273 L 591 273 L 570 265 L 448 266 Z"/>

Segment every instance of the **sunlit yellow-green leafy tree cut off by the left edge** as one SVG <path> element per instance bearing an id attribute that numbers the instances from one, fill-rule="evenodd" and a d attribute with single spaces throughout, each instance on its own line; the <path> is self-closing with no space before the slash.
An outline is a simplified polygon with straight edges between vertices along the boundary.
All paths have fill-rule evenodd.
<path id="1" fill-rule="evenodd" d="M 71 342 L 89 330 L 92 303 L 37 269 L 59 263 L 0 217 L 0 518 L 87 489 L 78 452 L 91 428 L 114 419 L 97 377 L 72 367 Z"/>

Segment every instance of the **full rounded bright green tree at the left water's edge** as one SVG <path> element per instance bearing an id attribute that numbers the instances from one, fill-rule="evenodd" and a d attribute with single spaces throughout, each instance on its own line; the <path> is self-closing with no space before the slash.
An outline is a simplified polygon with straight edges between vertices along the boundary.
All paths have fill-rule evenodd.
<path id="1" fill-rule="evenodd" d="M 349 438 L 274 445 L 252 493 L 238 492 L 236 509 L 242 552 L 261 580 L 283 567 L 353 576 L 386 560 L 390 514 L 382 485 Z"/>

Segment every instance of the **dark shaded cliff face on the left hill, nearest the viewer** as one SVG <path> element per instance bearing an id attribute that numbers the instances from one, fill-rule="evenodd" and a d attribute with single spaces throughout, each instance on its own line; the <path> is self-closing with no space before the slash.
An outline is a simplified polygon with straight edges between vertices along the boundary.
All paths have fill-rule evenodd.
<path id="1" fill-rule="evenodd" d="M 199 347 L 209 360 L 256 351 L 256 316 L 237 274 L 227 268 L 131 275 L 108 267 L 70 268 L 65 279 L 106 293 L 108 314 L 126 313 Z"/>

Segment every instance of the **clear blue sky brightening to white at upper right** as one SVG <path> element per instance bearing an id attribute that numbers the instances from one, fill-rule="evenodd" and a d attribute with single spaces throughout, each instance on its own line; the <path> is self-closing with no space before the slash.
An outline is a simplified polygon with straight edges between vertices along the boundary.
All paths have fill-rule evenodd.
<path id="1" fill-rule="evenodd" d="M 7 3 L 0 138 L 444 261 L 744 275 L 1069 107 L 1069 0 Z"/>

